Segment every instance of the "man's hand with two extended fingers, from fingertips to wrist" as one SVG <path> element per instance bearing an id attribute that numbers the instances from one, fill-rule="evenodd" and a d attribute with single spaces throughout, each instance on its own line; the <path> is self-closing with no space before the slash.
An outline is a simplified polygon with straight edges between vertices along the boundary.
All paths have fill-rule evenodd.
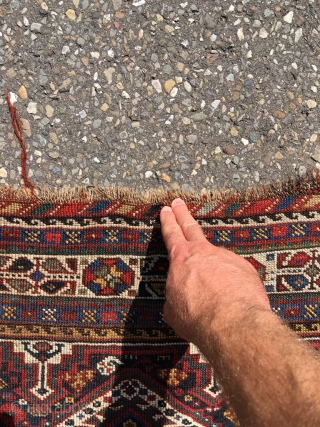
<path id="1" fill-rule="evenodd" d="M 255 268 L 241 256 L 207 241 L 181 199 L 161 210 L 169 252 L 164 317 L 185 340 L 199 345 L 212 322 L 226 325 L 251 309 L 270 311 Z"/>

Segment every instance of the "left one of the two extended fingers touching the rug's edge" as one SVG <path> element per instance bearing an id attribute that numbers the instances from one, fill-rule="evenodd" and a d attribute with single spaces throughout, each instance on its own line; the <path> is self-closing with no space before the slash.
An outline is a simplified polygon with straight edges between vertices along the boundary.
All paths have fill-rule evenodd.
<path id="1" fill-rule="evenodd" d="M 161 232 L 168 252 L 173 246 L 186 243 L 186 238 L 177 223 L 176 216 L 169 206 L 164 206 L 160 212 Z"/>

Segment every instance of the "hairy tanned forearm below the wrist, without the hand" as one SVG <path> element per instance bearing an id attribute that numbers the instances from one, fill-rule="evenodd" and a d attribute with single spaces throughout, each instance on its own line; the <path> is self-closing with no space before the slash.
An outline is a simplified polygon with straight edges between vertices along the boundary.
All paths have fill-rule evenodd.
<path id="1" fill-rule="evenodd" d="M 237 319 L 213 322 L 200 349 L 240 425 L 320 425 L 320 362 L 315 351 L 271 311 L 251 310 Z"/>

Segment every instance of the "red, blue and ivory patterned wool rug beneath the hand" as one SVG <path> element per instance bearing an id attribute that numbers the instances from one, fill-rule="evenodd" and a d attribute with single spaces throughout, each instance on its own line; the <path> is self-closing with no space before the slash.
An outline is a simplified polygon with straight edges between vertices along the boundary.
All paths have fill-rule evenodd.
<path id="1" fill-rule="evenodd" d="M 319 188 L 312 177 L 180 194 L 210 242 L 254 265 L 274 312 L 315 351 Z M 210 366 L 163 320 L 159 211 L 177 195 L 0 190 L 1 426 L 235 425 Z"/>

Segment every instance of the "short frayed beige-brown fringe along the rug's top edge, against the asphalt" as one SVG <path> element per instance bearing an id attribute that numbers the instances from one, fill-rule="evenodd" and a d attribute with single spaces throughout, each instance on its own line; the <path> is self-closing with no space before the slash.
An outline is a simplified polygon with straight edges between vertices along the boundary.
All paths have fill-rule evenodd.
<path id="1" fill-rule="evenodd" d="M 10 186 L 0 187 L 0 201 L 35 202 L 42 203 L 72 203 L 91 202 L 99 200 L 121 200 L 126 203 L 143 204 L 169 204 L 177 197 L 181 197 L 187 203 L 223 203 L 223 202 L 252 202 L 277 197 L 320 193 L 320 171 L 310 171 L 303 178 L 289 178 L 285 182 L 274 182 L 270 185 L 260 185 L 247 190 L 214 190 L 201 194 L 195 191 L 155 189 L 148 192 L 138 192 L 128 188 L 99 188 L 99 187 L 75 187 L 75 188 L 49 188 L 40 187 L 32 192 L 27 187 L 14 189 Z"/>

